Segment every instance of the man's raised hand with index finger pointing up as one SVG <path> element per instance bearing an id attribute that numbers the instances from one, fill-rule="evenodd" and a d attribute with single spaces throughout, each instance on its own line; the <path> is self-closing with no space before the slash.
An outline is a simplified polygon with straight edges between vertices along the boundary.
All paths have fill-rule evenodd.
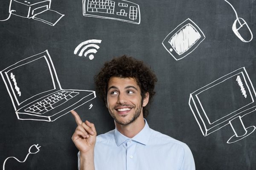
<path id="1" fill-rule="evenodd" d="M 75 111 L 71 111 L 76 119 L 76 130 L 72 136 L 72 140 L 76 145 L 80 154 L 93 154 L 96 142 L 96 129 L 93 123 L 88 121 L 82 122 L 81 118 Z"/>

